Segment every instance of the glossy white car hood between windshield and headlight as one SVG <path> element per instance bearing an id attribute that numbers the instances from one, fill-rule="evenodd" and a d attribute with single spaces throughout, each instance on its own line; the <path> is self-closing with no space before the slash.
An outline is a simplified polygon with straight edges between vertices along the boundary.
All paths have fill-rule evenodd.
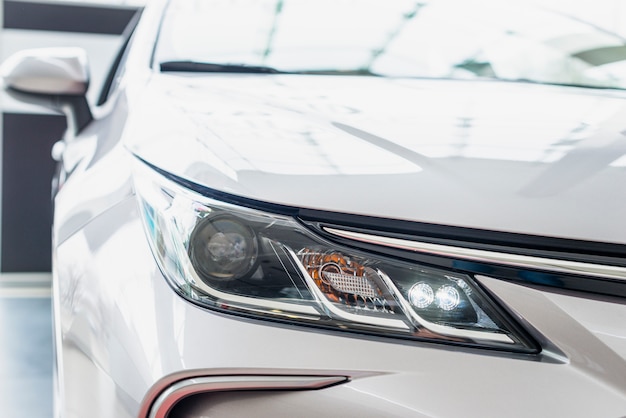
<path id="1" fill-rule="evenodd" d="M 301 208 L 626 243 L 626 94 L 508 82 L 158 74 L 127 145 Z"/>

